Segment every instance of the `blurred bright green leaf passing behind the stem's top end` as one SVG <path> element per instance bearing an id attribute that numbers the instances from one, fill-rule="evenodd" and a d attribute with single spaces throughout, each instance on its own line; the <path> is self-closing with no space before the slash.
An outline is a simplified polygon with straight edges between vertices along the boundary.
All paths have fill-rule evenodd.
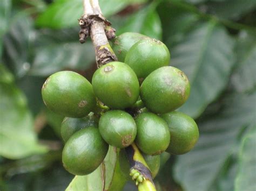
<path id="1" fill-rule="evenodd" d="M 101 0 L 99 1 L 103 15 L 107 18 L 125 6 L 133 3 L 144 3 L 147 0 Z M 78 26 L 77 19 L 83 15 L 83 2 L 80 0 L 57 0 L 37 18 L 37 25 L 60 29 L 64 27 Z"/>

